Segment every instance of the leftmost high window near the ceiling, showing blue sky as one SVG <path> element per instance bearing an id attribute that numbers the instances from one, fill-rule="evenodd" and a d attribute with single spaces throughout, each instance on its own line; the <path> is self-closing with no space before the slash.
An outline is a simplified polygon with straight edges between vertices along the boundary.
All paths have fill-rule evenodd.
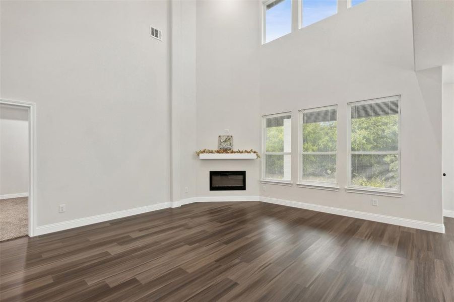
<path id="1" fill-rule="evenodd" d="M 274 0 L 263 4 L 263 42 L 268 43 L 292 32 L 292 1 Z"/>

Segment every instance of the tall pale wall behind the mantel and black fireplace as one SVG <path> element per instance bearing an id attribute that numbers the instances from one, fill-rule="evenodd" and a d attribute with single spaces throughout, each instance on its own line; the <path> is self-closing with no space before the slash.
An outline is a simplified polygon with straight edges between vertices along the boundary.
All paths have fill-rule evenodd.
<path id="1" fill-rule="evenodd" d="M 235 149 L 260 150 L 255 1 L 197 2 L 197 148 L 217 149 L 229 129 Z M 209 191 L 209 171 L 245 170 L 246 191 Z M 258 160 L 202 160 L 198 196 L 258 195 Z"/>

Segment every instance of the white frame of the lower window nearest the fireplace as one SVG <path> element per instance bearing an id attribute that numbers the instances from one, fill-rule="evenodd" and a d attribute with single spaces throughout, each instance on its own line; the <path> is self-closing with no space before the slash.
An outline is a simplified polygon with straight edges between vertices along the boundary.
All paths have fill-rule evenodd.
<path id="1" fill-rule="evenodd" d="M 267 152 L 267 118 L 270 117 L 278 117 L 278 116 L 287 116 L 290 115 L 292 119 L 292 124 L 290 127 L 290 131 L 293 128 L 293 116 L 291 111 L 275 113 L 275 114 L 267 114 L 262 116 L 262 169 L 261 169 L 261 179 L 262 183 L 269 183 L 269 184 L 282 184 L 282 185 L 292 185 L 292 133 L 290 133 L 290 152 Z M 290 155 L 290 179 L 277 179 L 277 178 L 265 178 L 265 167 L 266 167 L 266 155 Z"/>

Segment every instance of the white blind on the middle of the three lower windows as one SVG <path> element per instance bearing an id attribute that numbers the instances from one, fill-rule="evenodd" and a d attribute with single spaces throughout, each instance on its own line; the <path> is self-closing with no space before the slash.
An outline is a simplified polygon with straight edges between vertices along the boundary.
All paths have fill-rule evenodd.
<path id="1" fill-rule="evenodd" d="M 337 106 L 300 110 L 300 182 L 336 183 Z"/>

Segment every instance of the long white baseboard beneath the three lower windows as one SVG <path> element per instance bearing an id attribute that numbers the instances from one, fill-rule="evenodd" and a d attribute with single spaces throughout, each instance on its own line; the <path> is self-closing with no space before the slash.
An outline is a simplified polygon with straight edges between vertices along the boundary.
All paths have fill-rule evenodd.
<path id="1" fill-rule="evenodd" d="M 312 211 L 342 215 L 342 216 L 347 216 L 347 217 L 353 217 L 353 218 L 359 218 L 359 219 L 365 219 L 365 220 L 371 220 L 371 221 L 377 221 L 377 222 L 383 222 L 383 223 L 389 223 L 389 224 L 395 224 L 395 225 L 402 225 L 402 226 L 407 226 L 408 228 L 414 228 L 414 229 L 419 229 L 419 230 L 444 233 L 444 224 L 442 224 L 442 223 L 433 223 L 433 222 L 413 220 L 413 219 L 407 219 L 407 218 L 401 218 L 401 217 L 386 216 L 386 215 L 381 215 L 381 214 L 373 214 L 373 213 L 367 213 L 367 212 L 347 210 L 347 209 L 341 209 L 341 208 L 324 206 L 324 205 L 317 205 L 317 204 L 312 204 L 312 203 L 296 202 L 296 201 L 290 201 L 290 200 L 284 200 L 284 199 L 270 198 L 270 197 L 265 197 L 265 196 L 261 196 L 260 201 L 274 203 L 274 204 L 280 204 L 280 205 L 285 205 L 285 206 L 291 206 L 291 207 L 297 207 L 297 208 L 307 209 L 307 210 L 312 210 Z"/>

